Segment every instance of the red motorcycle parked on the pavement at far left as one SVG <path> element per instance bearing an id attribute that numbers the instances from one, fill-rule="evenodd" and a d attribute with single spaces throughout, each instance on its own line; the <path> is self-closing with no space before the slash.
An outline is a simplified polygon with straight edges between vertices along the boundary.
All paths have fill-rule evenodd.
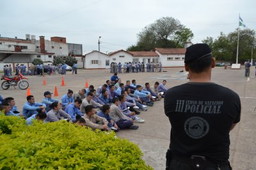
<path id="1" fill-rule="evenodd" d="M 26 90 L 29 87 L 29 83 L 22 74 L 19 73 L 18 76 L 2 76 L 1 80 L 4 80 L 1 84 L 2 89 L 7 90 L 12 85 L 15 89 L 15 86 L 19 86 L 21 90 Z"/>

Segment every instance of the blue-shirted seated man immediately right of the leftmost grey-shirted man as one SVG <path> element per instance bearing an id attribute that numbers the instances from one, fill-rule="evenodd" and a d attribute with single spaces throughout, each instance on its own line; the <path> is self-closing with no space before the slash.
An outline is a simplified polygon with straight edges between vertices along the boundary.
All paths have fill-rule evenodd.
<path id="1" fill-rule="evenodd" d="M 83 116 L 83 113 L 81 113 L 80 111 L 81 104 L 82 100 L 76 99 L 74 103 L 70 103 L 68 104 L 68 106 L 66 106 L 65 112 L 68 113 L 68 115 L 70 115 L 70 117 L 72 118 L 72 122 L 76 121 L 76 115 Z"/>

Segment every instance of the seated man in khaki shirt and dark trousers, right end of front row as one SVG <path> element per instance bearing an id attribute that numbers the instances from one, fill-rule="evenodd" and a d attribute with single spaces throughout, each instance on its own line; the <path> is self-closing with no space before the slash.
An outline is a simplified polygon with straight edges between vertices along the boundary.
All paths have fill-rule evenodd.
<path id="1" fill-rule="evenodd" d="M 138 125 L 133 125 L 132 118 L 124 115 L 118 107 L 118 98 L 112 100 L 113 104 L 110 106 L 110 117 L 116 122 L 120 129 L 138 129 Z"/>

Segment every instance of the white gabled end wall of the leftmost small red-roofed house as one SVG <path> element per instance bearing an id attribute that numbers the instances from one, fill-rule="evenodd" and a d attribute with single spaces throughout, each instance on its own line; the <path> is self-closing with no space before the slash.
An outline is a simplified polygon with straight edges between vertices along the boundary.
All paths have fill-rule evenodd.
<path id="1" fill-rule="evenodd" d="M 85 56 L 84 67 L 85 69 L 109 69 L 111 57 L 104 53 L 92 52 Z M 92 64 L 92 60 L 98 60 L 98 64 Z M 109 66 L 106 66 L 106 60 L 109 60 Z"/>

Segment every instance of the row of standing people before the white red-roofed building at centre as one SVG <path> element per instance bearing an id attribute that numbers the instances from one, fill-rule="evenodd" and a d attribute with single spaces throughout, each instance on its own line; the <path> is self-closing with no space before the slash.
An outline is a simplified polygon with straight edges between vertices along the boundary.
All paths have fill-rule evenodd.
<path id="1" fill-rule="evenodd" d="M 110 65 L 111 73 L 139 73 L 139 72 L 162 72 L 163 66 L 161 62 L 148 62 L 144 64 L 144 62 L 125 62 L 122 65 L 120 62 L 117 64 L 116 62 L 112 62 Z"/>

